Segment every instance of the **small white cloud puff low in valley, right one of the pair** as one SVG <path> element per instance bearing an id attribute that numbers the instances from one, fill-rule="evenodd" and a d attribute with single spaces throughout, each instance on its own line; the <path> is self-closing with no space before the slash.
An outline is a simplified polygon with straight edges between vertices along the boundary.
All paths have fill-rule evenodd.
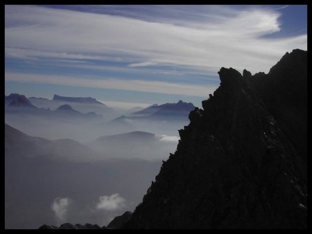
<path id="1" fill-rule="evenodd" d="M 119 210 L 125 207 L 125 199 L 118 193 L 110 196 L 101 196 L 96 204 L 97 209 L 103 209 L 108 211 Z"/>

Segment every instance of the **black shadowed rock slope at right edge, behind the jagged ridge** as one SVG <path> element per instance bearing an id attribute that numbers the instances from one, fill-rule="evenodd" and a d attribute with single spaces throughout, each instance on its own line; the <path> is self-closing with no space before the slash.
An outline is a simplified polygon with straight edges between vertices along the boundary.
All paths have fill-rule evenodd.
<path id="1" fill-rule="evenodd" d="M 268 111 L 291 141 L 300 160 L 304 161 L 301 172 L 306 183 L 307 161 L 307 53 L 293 50 L 286 53 L 270 69 L 268 75 L 257 73 L 250 78 Z M 298 164 L 298 163 L 297 163 Z"/>

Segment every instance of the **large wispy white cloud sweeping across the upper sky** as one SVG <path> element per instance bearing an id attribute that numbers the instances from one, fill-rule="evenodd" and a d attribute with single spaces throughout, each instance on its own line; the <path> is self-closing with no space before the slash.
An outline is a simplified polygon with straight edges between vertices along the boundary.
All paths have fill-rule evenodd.
<path id="1" fill-rule="evenodd" d="M 214 13 L 204 21 L 175 24 L 177 19 L 147 21 L 42 6 L 6 6 L 5 43 L 10 48 L 26 48 L 33 57 L 37 56 L 35 51 L 82 57 L 109 54 L 127 57 L 132 66 L 147 66 L 146 61 L 152 61 L 211 71 L 232 66 L 252 73 L 268 72 L 293 48 L 307 48 L 306 34 L 279 39 L 262 37 L 282 30 L 280 12 L 210 8 L 214 8 Z M 210 13 L 211 10 L 206 15 Z"/>

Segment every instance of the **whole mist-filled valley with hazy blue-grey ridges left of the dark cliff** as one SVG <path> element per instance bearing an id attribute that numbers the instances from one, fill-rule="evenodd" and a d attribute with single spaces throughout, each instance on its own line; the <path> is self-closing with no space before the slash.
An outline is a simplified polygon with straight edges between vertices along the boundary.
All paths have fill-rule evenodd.
<path id="1" fill-rule="evenodd" d="M 141 119 L 124 126 L 124 119 L 116 119 L 138 114 L 117 117 L 118 111 L 95 99 L 56 97 L 5 97 L 6 228 L 107 226 L 141 202 L 162 161 L 176 150 L 174 128 L 189 121 L 189 105 L 183 108 L 182 101 L 164 105 L 177 105 L 172 116 L 141 108 Z"/>

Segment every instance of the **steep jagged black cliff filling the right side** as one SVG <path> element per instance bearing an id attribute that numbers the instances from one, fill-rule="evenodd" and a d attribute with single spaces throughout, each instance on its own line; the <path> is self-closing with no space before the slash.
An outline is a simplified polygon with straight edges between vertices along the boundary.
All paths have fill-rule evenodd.
<path id="1" fill-rule="evenodd" d="M 123 228 L 306 228 L 306 53 L 220 69 Z"/>

